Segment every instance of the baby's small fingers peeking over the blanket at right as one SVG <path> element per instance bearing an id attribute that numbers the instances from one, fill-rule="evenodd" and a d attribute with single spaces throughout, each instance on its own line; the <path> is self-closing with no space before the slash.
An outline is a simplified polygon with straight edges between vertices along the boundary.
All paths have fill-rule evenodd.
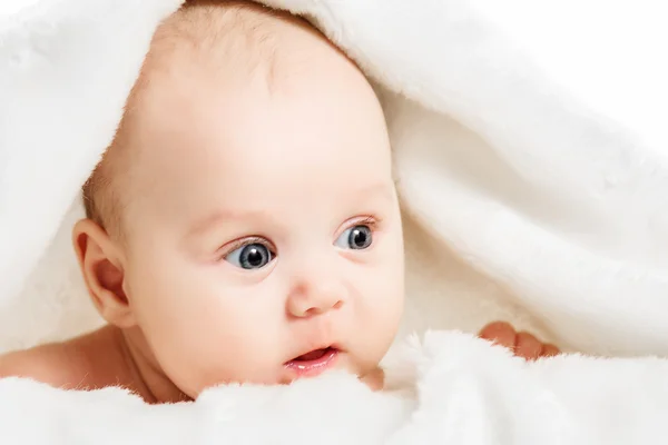
<path id="1" fill-rule="evenodd" d="M 529 333 L 518 333 L 505 322 L 490 323 L 478 334 L 480 338 L 510 348 L 518 357 L 534 360 L 540 357 L 554 356 L 560 353 L 554 345 L 544 344 Z"/>

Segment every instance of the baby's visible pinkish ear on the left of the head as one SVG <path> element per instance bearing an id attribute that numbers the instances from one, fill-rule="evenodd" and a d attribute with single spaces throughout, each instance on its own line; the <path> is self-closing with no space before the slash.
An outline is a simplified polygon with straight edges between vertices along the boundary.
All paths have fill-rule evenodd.
<path id="1" fill-rule="evenodd" d="M 135 326 L 124 290 L 124 261 L 118 245 L 91 219 L 75 225 L 72 243 L 88 294 L 102 318 L 120 328 Z"/>

